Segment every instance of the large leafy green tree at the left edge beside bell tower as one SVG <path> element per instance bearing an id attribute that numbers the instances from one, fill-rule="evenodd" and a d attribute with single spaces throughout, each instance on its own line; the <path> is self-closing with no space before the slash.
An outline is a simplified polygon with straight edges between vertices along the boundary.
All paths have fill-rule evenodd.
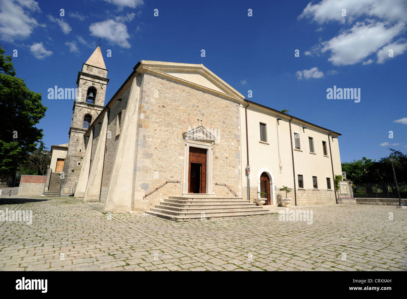
<path id="1" fill-rule="evenodd" d="M 13 175 L 42 139 L 42 129 L 35 125 L 45 116 L 47 107 L 41 103 L 41 94 L 28 89 L 24 80 L 15 76 L 11 56 L 3 54 L 0 46 L 0 174 Z"/>

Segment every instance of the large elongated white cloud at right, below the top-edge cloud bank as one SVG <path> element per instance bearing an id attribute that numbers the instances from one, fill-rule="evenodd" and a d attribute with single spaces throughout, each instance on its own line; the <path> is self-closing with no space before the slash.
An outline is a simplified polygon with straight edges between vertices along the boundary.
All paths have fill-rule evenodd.
<path id="1" fill-rule="evenodd" d="M 350 30 L 325 41 L 322 52 L 331 51 L 328 61 L 334 65 L 355 64 L 389 43 L 404 29 L 405 24 L 401 22 L 394 26 L 383 22 L 368 25 L 357 22 Z"/>

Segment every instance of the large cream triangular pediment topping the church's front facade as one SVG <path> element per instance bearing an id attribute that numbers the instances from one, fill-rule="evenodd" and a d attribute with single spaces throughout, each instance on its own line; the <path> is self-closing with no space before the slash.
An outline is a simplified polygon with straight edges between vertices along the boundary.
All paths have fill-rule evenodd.
<path id="1" fill-rule="evenodd" d="M 151 72 L 215 94 L 244 100 L 236 89 L 212 73 L 203 64 L 142 60 L 138 72 Z"/>

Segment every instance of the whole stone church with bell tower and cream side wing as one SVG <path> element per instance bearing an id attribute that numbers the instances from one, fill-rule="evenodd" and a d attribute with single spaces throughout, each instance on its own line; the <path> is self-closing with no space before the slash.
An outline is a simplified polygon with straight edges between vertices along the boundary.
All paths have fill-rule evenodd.
<path id="1" fill-rule="evenodd" d="M 245 99 L 202 64 L 142 60 L 104 105 L 107 72 L 98 47 L 78 74 L 61 194 L 156 216 L 197 199 L 253 208 L 259 192 L 278 205 L 282 186 L 291 205 L 336 202 L 341 134 Z"/>

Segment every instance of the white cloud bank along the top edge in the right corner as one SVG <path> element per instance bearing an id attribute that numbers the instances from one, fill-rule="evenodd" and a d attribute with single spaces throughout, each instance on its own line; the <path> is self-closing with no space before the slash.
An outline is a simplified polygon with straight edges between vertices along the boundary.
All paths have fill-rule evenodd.
<path id="1" fill-rule="evenodd" d="M 346 17 L 342 16 L 346 9 Z M 315 22 L 336 21 L 345 23 L 355 17 L 377 17 L 392 22 L 399 20 L 407 22 L 407 2 L 405 0 L 322 0 L 317 4 L 306 6 L 298 19 L 311 18 Z"/>

